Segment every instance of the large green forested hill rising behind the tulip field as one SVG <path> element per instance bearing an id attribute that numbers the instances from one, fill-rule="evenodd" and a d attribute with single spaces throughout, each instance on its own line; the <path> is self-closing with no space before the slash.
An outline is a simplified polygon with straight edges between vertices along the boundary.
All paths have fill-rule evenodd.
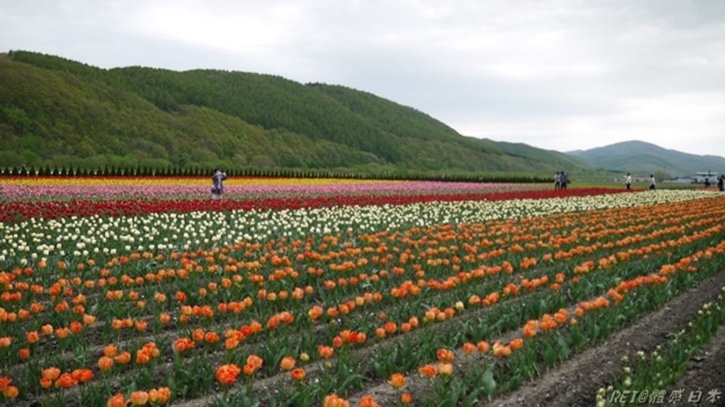
<path id="1" fill-rule="evenodd" d="M 555 151 L 464 137 L 342 86 L 219 70 L 104 70 L 25 51 L 0 58 L 0 134 L 6 165 L 592 172 Z"/>

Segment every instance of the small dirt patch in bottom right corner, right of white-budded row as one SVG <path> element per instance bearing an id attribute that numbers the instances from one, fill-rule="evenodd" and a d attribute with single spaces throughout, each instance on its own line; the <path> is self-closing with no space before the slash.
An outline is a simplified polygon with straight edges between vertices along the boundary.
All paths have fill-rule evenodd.
<path id="1" fill-rule="evenodd" d="M 667 389 L 668 397 L 677 389 L 684 393 L 676 406 L 725 406 L 725 327 L 720 327 L 708 346 L 689 362 L 684 376 Z M 690 392 L 697 390 L 703 392 L 700 402 L 688 403 Z M 717 390 L 720 395 L 712 395 L 708 400 L 711 390 Z"/>

